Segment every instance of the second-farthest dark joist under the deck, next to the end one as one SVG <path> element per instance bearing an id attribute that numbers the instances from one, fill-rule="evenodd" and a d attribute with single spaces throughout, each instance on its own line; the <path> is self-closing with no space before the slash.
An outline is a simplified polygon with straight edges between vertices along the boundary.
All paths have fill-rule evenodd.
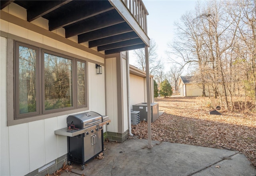
<path id="1" fill-rule="evenodd" d="M 133 45 L 142 44 L 142 43 L 144 43 L 144 42 L 140 38 L 135 38 L 135 39 L 126 40 L 126 41 L 122 41 L 122 42 L 98 46 L 98 51 L 122 48 L 122 47 L 126 47 L 126 46 L 133 46 Z"/>

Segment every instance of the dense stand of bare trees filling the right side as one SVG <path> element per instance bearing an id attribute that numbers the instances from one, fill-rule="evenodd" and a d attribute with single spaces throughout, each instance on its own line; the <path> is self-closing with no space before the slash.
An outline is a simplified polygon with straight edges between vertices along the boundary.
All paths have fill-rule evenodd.
<path id="1" fill-rule="evenodd" d="M 198 2 L 175 24 L 176 38 L 169 44 L 170 61 L 193 68 L 202 96 L 208 91 L 231 111 L 236 103 L 248 109 L 252 101 L 256 110 L 255 4 L 256 0 Z M 234 96 L 242 102 L 234 102 Z"/>

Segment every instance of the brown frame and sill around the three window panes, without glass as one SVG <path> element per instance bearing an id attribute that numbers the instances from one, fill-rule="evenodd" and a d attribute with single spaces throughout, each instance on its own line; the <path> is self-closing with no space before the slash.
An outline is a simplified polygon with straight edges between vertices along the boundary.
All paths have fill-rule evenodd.
<path id="1" fill-rule="evenodd" d="M 66 54 L 60 54 L 60 52 L 55 52 L 52 50 L 48 50 L 43 47 L 37 47 L 30 44 L 26 44 L 23 42 L 19 42 L 16 40 L 12 40 L 14 44 L 14 55 L 13 55 L 13 74 L 14 74 L 14 117 L 10 119 L 8 117 L 8 122 L 12 122 L 13 124 L 20 124 L 24 122 L 31 122 L 40 119 L 50 118 L 54 116 L 70 114 L 74 112 L 81 112 L 84 110 L 88 110 L 88 64 L 87 60 L 82 60 L 74 56 L 68 56 Z M 36 112 L 28 112 L 24 114 L 19 114 L 19 47 L 24 46 L 31 49 L 36 49 Z M 45 110 L 44 109 L 44 53 L 52 54 L 55 56 L 60 56 L 63 58 L 72 60 L 72 105 L 67 108 L 59 108 L 54 110 Z M 85 105 L 78 106 L 77 105 L 77 62 L 85 63 Z M 17 101 L 18 100 L 18 101 Z M 8 124 L 9 126 L 9 124 Z"/>

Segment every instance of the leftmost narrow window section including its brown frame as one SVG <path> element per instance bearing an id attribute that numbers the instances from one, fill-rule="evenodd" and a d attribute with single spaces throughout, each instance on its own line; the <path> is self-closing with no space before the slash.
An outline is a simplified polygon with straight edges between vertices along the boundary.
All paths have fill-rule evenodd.
<path id="1" fill-rule="evenodd" d="M 38 99 L 38 76 L 37 60 L 39 56 L 38 48 L 28 45 L 18 45 L 16 47 L 16 115 L 32 116 L 39 114 Z M 25 115 L 26 114 L 26 115 Z"/>

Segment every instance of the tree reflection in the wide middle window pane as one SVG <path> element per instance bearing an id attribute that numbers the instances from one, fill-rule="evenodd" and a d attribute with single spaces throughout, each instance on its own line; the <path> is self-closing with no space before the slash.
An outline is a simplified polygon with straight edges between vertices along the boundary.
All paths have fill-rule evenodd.
<path id="1" fill-rule="evenodd" d="M 72 60 L 44 53 L 44 108 L 67 108 L 72 104 Z"/>

